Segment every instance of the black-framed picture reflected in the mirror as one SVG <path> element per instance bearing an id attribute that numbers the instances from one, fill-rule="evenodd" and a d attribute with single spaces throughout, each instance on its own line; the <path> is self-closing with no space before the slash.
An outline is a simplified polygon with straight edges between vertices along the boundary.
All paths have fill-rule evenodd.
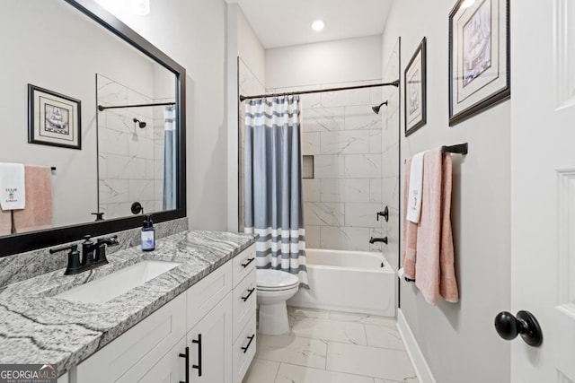
<path id="1" fill-rule="evenodd" d="M 28 143 L 82 149 L 81 102 L 28 84 Z"/>

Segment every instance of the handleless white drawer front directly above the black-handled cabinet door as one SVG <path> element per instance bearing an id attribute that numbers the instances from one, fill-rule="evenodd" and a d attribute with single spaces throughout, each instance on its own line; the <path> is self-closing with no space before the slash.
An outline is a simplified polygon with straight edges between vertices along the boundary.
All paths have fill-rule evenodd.
<path id="1" fill-rule="evenodd" d="M 228 292 L 232 291 L 232 262 L 218 267 L 186 292 L 189 330 L 204 318 L 210 309 L 216 307 Z"/>

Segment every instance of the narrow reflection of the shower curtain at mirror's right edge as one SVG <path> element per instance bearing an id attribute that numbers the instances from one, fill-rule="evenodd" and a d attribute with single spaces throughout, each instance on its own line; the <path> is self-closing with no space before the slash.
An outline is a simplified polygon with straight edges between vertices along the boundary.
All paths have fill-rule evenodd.
<path id="1" fill-rule="evenodd" d="M 164 109 L 164 210 L 176 208 L 176 130 L 175 106 Z"/>

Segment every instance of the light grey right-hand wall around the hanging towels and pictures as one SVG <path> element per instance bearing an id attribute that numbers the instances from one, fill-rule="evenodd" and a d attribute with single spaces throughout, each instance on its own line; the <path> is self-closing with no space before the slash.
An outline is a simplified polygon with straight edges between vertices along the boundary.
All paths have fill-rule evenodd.
<path id="1" fill-rule="evenodd" d="M 448 126 L 447 20 L 454 4 L 396 1 L 384 33 L 384 56 L 402 37 L 402 72 L 420 40 L 428 41 L 428 122 L 402 138 L 402 166 L 403 158 L 416 152 L 469 143 L 467 156 L 453 157 L 451 216 L 460 302 L 430 306 L 413 284 L 402 282 L 400 305 L 438 382 L 506 382 L 510 347 L 495 333 L 493 318 L 510 307 L 510 108 L 507 101 Z"/>

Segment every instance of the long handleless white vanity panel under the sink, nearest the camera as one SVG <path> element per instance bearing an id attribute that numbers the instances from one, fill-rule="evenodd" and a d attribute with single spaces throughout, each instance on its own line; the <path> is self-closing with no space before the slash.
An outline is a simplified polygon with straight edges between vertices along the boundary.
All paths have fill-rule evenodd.
<path id="1" fill-rule="evenodd" d="M 186 335 L 186 301 L 179 295 L 77 366 L 77 382 L 122 381 L 136 365 L 153 366 Z"/>

